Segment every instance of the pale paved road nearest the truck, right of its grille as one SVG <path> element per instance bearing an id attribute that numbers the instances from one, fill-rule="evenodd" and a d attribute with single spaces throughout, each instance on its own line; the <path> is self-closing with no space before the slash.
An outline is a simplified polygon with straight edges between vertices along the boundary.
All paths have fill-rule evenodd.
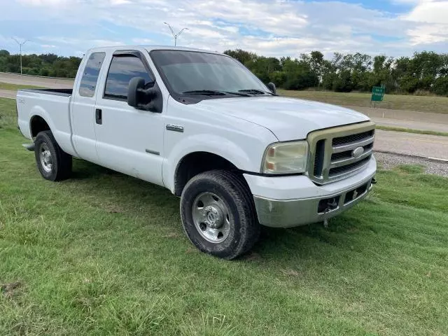
<path id="1" fill-rule="evenodd" d="M 374 150 L 448 160 L 448 137 L 377 130 Z"/>

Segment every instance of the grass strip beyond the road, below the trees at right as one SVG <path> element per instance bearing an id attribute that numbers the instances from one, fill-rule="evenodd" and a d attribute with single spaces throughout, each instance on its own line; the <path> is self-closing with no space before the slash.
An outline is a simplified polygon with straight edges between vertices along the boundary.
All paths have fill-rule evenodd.
<path id="1" fill-rule="evenodd" d="M 342 106 L 370 106 L 370 93 L 330 92 L 330 91 L 290 91 L 278 90 L 278 93 L 288 97 L 316 100 Z M 386 94 L 384 102 L 377 104 L 381 109 L 421 111 L 432 113 L 448 113 L 448 97 L 412 96 Z"/>

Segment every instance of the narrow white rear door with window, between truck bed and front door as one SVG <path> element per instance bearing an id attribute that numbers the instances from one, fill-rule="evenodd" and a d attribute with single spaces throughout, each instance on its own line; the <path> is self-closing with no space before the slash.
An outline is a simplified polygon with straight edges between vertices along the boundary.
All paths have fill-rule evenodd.
<path id="1" fill-rule="evenodd" d="M 80 158 L 91 162 L 98 162 L 95 148 L 97 139 L 94 129 L 94 109 L 99 73 L 105 56 L 105 52 L 92 52 L 88 56 L 80 83 L 76 83 L 77 87 L 72 94 L 70 116 L 73 146 Z"/>

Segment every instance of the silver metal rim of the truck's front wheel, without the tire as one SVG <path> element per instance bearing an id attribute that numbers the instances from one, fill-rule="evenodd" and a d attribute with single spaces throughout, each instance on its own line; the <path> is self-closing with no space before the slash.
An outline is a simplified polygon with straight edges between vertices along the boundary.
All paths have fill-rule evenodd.
<path id="1" fill-rule="evenodd" d="M 201 193 L 193 202 L 193 222 L 197 232 L 211 243 L 221 243 L 230 233 L 227 205 L 214 193 Z"/>

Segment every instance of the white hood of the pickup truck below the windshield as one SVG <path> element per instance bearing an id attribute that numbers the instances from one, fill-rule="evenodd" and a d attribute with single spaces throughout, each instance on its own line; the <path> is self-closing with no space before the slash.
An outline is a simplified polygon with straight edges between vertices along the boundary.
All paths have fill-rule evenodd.
<path id="1" fill-rule="evenodd" d="M 370 120 L 341 106 L 286 97 L 206 99 L 197 107 L 266 127 L 279 141 L 305 139 L 311 131 Z"/>

